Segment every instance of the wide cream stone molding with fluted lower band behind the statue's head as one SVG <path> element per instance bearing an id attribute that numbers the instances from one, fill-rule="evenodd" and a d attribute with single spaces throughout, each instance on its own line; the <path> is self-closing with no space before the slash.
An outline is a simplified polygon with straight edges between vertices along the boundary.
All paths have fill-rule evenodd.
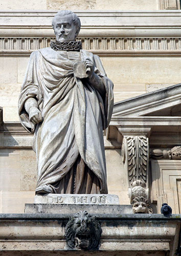
<path id="1" fill-rule="evenodd" d="M 54 40 L 52 11 L 0 11 L 0 55 L 29 55 Z M 180 11 L 79 11 L 83 49 L 99 55 L 180 56 Z M 93 24 L 96 24 L 93 26 Z M 42 37 L 43 35 L 43 37 Z M 99 35 L 99 37 L 98 37 Z"/>

